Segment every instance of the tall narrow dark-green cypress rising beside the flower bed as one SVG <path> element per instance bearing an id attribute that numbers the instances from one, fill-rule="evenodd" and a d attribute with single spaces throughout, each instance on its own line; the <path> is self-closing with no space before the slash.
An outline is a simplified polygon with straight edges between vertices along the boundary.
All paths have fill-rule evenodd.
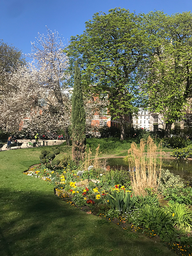
<path id="1" fill-rule="evenodd" d="M 72 95 L 72 157 L 76 163 L 84 159 L 86 135 L 85 135 L 85 110 L 83 92 L 81 87 L 81 73 L 76 61 L 74 87 Z"/>

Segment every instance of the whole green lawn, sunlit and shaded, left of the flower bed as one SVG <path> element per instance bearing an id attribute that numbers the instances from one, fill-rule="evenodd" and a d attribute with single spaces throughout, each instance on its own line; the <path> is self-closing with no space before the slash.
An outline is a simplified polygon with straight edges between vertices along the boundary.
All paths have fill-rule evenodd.
<path id="1" fill-rule="evenodd" d="M 48 182 L 24 175 L 39 163 L 39 151 L 0 152 L 1 256 L 175 255 L 158 239 L 103 223 L 55 196 Z"/>

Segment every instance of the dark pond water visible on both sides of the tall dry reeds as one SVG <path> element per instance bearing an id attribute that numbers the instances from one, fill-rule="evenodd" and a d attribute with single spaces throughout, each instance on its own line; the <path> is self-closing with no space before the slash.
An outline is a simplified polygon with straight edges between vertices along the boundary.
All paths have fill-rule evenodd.
<path id="1" fill-rule="evenodd" d="M 163 169 L 168 169 L 175 175 L 183 179 L 192 178 L 192 160 L 162 159 Z M 128 169 L 128 164 L 124 163 L 123 158 L 108 158 L 110 168 Z"/>

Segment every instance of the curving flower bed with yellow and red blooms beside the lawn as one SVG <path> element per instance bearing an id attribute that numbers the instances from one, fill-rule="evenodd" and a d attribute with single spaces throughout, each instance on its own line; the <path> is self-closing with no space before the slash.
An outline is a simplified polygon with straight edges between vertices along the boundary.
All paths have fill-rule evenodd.
<path id="1" fill-rule="evenodd" d="M 124 229 L 150 237 L 160 236 L 171 250 L 185 256 L 192 255 L 192 210 L 185 204 L 179 204 L 171 195 L 168 197 L 166 184 L 174 178 L 169 177 L 167 171 L 162 174 L 159 192 L 165 191 L 167 199 L 171 199 L 168 207 L 160 205 L 152 188 L 148 188 L 147 196 L 136 196 L 127 171 L 106 171 L 93 166 L 80 170 L 80 167 L 72 169 L 71 166 L 65 164 L 65 167 L 51 170 L 40 164 L 25 174 L 50 182 L 62 200 L 100 216 L 103 221 L 113 221 Z M 174 182 L 180 191 L 181 187 L 184 189 L 185 184 L 179 178 Z M 190 186 L 187 189 L 192 193 Z M 173 202 L 177 202 L 176 208 Z"/>

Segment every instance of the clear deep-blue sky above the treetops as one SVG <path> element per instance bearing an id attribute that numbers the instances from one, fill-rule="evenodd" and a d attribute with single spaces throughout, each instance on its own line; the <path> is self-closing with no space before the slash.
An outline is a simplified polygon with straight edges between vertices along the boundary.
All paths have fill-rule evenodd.
<path id="1" fill-rule="evenodd" d="M 136 13 L 163 10 L 164 13 L 188 12 L 190 0 L 0 0 L 0 39 L 23 53 L 31 52 L 31 41 L 46 27 L 56 30 L 68 43 L 70 36 L 82 34 L 85 21 L 93 13 L 121 7 Z"/>

